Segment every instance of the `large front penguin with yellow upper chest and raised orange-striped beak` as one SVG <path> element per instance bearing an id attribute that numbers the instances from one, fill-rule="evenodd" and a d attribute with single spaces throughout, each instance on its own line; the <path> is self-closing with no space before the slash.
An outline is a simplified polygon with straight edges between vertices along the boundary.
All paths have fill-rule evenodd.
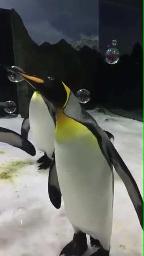
<path id="1" fill-rule="evenodd" d="M 10 67 L 7 69 L 14 71 Z M 86 234 L 89 234 L 91 245 L 99 248 L 93 256 L 109 256 L 113 166 L 125 184 L 142 226 L 143 200 L 134 178 L 107 134 L 81 108 L 63 82 L 51 81 L 49 77 L 38 78 L 17 70 L 15 73 L 28 81 L 57 110 L 54 147 L 58 183 L 54 165 L 51 165 L 49 196 L 50 199 L 57 196 L 61 200 L 61 191 L 66 214 L 74 229 L 72 241 L 60 255 L 81 256 L 87 250 Z"/>

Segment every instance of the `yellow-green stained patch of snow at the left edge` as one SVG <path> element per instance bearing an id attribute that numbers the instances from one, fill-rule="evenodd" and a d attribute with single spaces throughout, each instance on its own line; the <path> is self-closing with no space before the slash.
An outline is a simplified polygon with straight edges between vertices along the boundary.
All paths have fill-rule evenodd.
<path id="1" fill-rule="evenodd" d="M 17 177 L 17 172 L 22 167 L 32 165 L 32 161 L 12 161 L 0 165 L 0 179 L 7 180 Z"/>

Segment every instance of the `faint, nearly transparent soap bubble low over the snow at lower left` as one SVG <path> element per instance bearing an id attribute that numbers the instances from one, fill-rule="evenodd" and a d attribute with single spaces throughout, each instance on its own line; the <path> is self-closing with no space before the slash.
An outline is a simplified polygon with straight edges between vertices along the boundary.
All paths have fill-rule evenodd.
<path id="1" fill-rule="evenodd" d="M 13 221 L 18 226 L 26 224 L 27 210 L 24 207 L 19 207 L 13 212 Z"/>

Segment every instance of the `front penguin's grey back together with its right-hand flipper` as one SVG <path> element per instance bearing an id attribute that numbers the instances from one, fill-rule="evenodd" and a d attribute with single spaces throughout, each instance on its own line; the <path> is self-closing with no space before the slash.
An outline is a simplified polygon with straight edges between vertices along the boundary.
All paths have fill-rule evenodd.
<path id="1" fill-rule="evenodd" d="M 109 140 L 108 135 L 100 128 L 95 119 L 84 109 L 81 108 L 80 103 L 73 95 L 73 93 L 70 93 L 67 104 L 63 108 L 63 113 L 66 114 L 66 116 L 71 117 L 74 120 L 85 125 L 96 137 L 99 147 L 109 166 L 111 168 L 112 166 L 114 166 L 116 172 L 125 184 L 127 192 L 138 215 L 140 225 L 143 228 L 143 199 L 134 178 L 132 177 L 129 169 L 114 148 L 112 142 Z"/>

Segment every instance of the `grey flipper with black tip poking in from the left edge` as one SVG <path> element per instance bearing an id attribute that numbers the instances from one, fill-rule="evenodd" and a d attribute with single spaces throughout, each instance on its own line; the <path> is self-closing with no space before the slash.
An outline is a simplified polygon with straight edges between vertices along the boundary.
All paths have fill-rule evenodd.
<path id="1" fill-rule="evenodd" d="M 21 135 L 15 131 L 0 127 L 0 142 L 12 145 L 15 148 L 20 148 L 31 156 L 35 156 L 35 147 Z"/>

